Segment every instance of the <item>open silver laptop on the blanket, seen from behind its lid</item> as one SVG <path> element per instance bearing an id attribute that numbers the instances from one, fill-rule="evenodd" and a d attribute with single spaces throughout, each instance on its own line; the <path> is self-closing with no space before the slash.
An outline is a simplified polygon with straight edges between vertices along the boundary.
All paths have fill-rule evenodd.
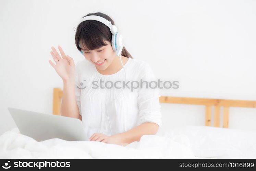
<path id="1" fill-rule="evenodd" d="M 80 119 L 54 114 L 8 108 L 20 133 L 36 141 L 60 138 L 66 141 L 88 141 Z"/>

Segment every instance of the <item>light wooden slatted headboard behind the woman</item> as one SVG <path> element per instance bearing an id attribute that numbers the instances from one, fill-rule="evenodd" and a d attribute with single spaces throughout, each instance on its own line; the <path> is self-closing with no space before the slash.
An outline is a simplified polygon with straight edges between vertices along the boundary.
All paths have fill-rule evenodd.
<path id="1" fill-rule="evenodd" d="M 53 107 L 52 113 L 60 115 L 60 105 L 63 91 L 61 88 L 53 88 Z M 229 108 L 244 107 L 256 108 L 256 101 L 249 100 L 225 100 L 225 99 L 207 99 L 190 97 L 170 97 L 160 96 L 160 103 L 178 103 L 188 105 L 205 106 L 205 126 L 211 126 L 211 107 L 214 106 L 214 126 L 220 127 L 220 107 L 223 106 L 223 127 L 229 127 Z"/>

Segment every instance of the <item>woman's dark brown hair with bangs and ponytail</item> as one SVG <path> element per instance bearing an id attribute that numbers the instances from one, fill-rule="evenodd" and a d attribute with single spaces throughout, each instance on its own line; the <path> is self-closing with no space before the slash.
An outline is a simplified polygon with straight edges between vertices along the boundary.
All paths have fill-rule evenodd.
<path id="1" fill-rule="evenodd" d="M 88 15 L 101 16 L 107 19 L 108 21 L 110 20 L 111 24 L 115 24 L 114 21 L 108 15 L 103 14 L 101 12 L 89 13 L 85 16 Z M 86 49 L 94 50 L 102 46 L 106 46 L 107 44 L 105 44 L 104 40 L 109 41 L 111 44 L 111 38 L 112 33 L 108 26 L 96 20 L 86 20 L 80 23 L 76 28 L 75 44 L 79 51 L 82 50 L 79 47 L 80 42 Z M 133 58 L 131 54 L 125 49 L 125 47 L 123 47 L 121 55 L 127 58 Z"/>

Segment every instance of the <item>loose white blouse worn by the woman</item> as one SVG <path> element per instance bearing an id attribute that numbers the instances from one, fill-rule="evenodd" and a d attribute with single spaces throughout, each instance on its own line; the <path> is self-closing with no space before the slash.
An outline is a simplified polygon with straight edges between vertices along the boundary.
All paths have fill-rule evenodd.
<path id="1" fill-rule="evenodd" d="M 150 81 L 156 82 L 153 70 L 141 60 L 129 58 L 124 69 L 111 75 L 100 74 L 86 59 L 78 61 L 75 96 L 87 138 L 94 133 L 111 136 L 146 122 L 161 126 L 159 88 Z"/>

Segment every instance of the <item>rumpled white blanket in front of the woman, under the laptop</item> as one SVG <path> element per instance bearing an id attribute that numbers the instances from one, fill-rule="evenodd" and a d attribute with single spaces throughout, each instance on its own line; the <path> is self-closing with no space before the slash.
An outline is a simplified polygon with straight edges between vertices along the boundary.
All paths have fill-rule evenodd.
<path id="1" fill-rule="evenodd" d="M 185 135 L 143 135 L 127 146 L 59 138 L 37 142 L 17 129 L 0 136 L 0 158 L 197 158 Z"/>

